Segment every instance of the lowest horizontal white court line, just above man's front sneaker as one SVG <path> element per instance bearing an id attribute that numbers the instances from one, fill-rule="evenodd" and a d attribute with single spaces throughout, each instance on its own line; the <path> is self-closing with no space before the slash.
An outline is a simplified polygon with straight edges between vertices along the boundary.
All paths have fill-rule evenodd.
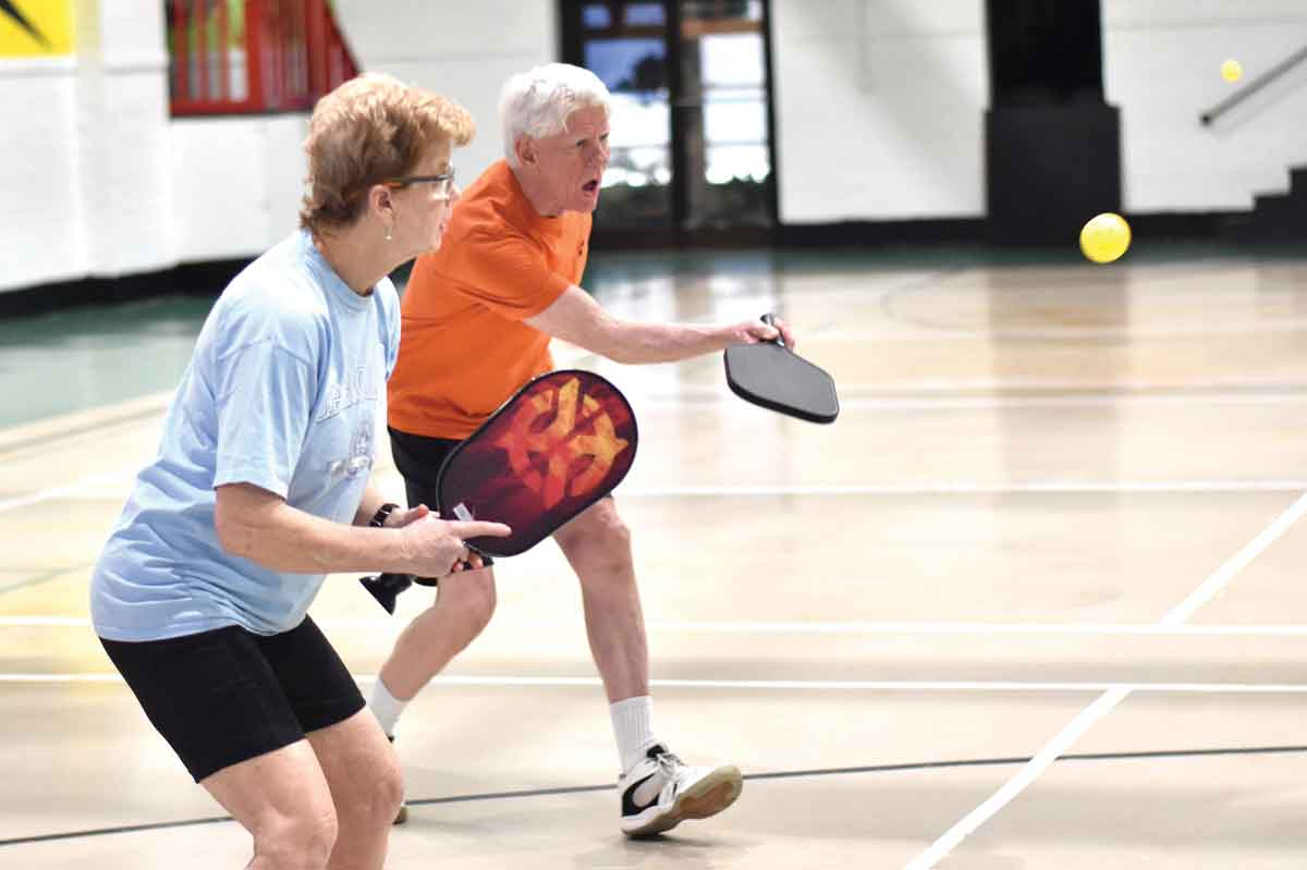
<path id="1" fill-rule="evenodd" d="M 375 674 L 354 674 L 366 683 Z M 120 683 L 118 674 L 3 674 L 0 683 Z M 433 683 L 446 686 L 571 687 L 601 686 L 599 677 L 448 675 Z M 914 679 L 651 679 L 659 688 L 735 688 L 808 691 L 910 692 L 1165 692 L 1188 695 L 1307 695 L 1307 683 L 1119 683 L 1099 681 L 914 681 Z M 1124 694 L 1123 694 L 1124 698 Z M 1099 699 L 1102 700 L 1102 699 Z M 1082 713 L 1084 716 L 1084 713 Z"/>

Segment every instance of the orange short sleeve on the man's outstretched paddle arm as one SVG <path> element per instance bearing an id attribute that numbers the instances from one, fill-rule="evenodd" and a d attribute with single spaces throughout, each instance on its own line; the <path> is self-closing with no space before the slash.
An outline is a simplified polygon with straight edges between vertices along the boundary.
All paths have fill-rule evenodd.
<path id="1" fill-rule="evenodd" d="M 536 316 L 571 286 L 537 243 L 515 234 L 471 234 L 444 265 L 456 291 L 508 320 Z"/>

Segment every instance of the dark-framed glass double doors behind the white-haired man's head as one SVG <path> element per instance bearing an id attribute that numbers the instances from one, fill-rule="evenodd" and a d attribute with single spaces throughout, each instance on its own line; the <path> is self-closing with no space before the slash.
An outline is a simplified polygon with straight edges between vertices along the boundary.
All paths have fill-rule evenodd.
<path id="1" fill-rule="evenodd" d="M 563 59 L 613 98 L 601 244 L 767 244 L 776 226 L 769 3 L 563 0 Z"/>

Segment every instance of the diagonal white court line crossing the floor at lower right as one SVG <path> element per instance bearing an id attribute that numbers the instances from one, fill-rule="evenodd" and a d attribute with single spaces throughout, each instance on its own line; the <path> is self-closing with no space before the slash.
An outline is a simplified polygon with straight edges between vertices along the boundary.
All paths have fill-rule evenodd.
<path id="1" fill-rule="evenodd" d="M 1234 576 L 1246 568 L 1253 559 L 1269 547 L 1290 525 L 1297 523 L 1303 513 L 1307 513 L 1307 495 L 1302 495 L 1289 508 L 1276 517 L 1274 523 L 1261 530 L 1261 534 L 1249 541 L 1239 553 L 1231 556 L 1225 564 L 1209 576 L 1195 589 L 1189 597 L 1167 613 L 1159 624 L 1178 626 L 1188 619 L 1204 604 L 1210 601 Z M 974 833 L 976 828 L 988 822 L 996 813 L 1002 810 L 1013 798 L 1021 794 L 1026 786 L 1035 781 L 1048 767 L 1057 760 L 1080 737 L 1094 726 L 1098 720 L 1112 712 L 1125 698 L 1136 691 L 1127 685 L 1116 685 L 1107 688 L 1093 704 L 1081 711 L 1067 728 L 1057 733 L 1039 752 L 1022 765 L 1021 771 L 1009 780 L 1001 789 L 995 792 L 984 803 L 965 815 L 957 824 L 944 832 L 921 854 L 906 865 L 906 870 L 929 870 L 953 852 L 962 840 Z"/>

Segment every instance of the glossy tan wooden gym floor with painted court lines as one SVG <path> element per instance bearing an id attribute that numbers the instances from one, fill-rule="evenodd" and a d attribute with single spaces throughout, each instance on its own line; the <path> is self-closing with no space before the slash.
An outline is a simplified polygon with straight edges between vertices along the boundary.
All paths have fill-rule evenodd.
<path id="1" fill-rule="evenodd" d="M 401 867 L 1300 867 L 1307 261 L 596 259 L 612 310 L 778 310 L 833 426 L 719 355 L 626 367 L 659 732 L 749 777 L 631 843 L 576 584 L 505 559 L 486 634 L 400 728 Z M 0 324 L 0 866 L 234 869 L 86 623 L 86 580 L 207 302 Z M 380 481 L 403 487 L 388 456 Z M 314 615 L 365 683 L 423 605 Z M 366 686 L 365 686 L 366 687 Z"/>

